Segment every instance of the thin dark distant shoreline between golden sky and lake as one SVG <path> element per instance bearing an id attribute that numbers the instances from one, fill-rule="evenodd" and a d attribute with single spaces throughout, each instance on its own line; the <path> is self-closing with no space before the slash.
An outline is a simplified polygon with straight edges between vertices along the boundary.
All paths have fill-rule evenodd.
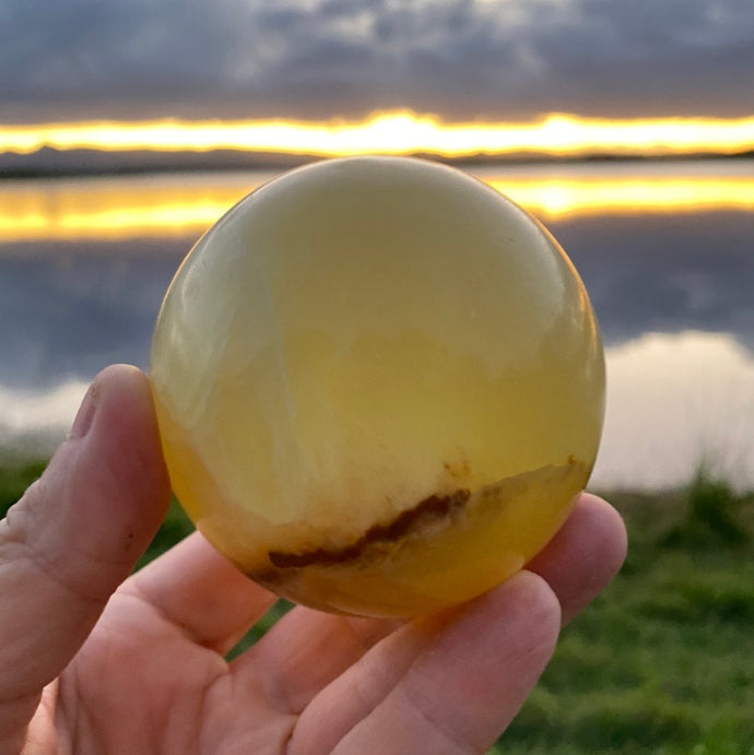
<path id="1" fill-rule="evenodd" d="M 581 156 L 553 157 L 538 154 L 470 155 L 448 158 L 436 154 L 417 153 L 415 157 L 434 160 L 447 165 L 523 166 L 523 165 L 588 165 L 593 163 L 671 163 L 685 161 L 751 160 L 754 150 L 738 153 L 687 153 L 665 155 L 618 155 L 592 153 Z M 22 155 L 0 154 L 0 180 L 38 178 L 78 178 L 99 176 L 143 175 L 160 173 L 203 173 L 243 170 L 285 170 L 322 160 L 319 155 L 285 155 L 279 153 L 247 153 L 234 150 L 213 152 L 101 152 L 97 150 L 52 150 Z"/>

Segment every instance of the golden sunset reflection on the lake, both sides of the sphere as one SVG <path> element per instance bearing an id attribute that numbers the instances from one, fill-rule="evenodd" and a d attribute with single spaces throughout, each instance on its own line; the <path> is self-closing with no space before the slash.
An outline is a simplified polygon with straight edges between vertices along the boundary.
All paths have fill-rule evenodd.
<path id="1" fill-rule="evenodd" d="M 272 175 L 272 174 L 271 174 Z M 271 177 L 271 175 L 269 177 Z M 754 211 L 754 175 L 525 175 L 480 177 L 552 220 L 596 214 Z M 0 188 L 0 243 L 197 237 L 260 184 L 259 174 L 14 182 Z"/>

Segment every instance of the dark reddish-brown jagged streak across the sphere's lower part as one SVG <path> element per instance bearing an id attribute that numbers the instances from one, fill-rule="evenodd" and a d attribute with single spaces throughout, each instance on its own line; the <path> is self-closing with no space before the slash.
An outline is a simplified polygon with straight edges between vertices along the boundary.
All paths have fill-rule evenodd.
<path id="1" fill-rule="evenodd" d="M 316 548 L 303 553 L 282 553 L 270 551 L 269 558 L 279 569 L 302 568 L 304 566 L 328 566 L 354 561 L 368 545 L 392 543 L 403 538 L 410 530 L 421 526 L 422 520 L 443 519 L 452 511 L 463 508 L 471 492 L 459 488 L 450 495 L 431 495 L 412 509 L 402 511 L 387 524 L 374 524 L 357 541 L 340 548 Z"/>

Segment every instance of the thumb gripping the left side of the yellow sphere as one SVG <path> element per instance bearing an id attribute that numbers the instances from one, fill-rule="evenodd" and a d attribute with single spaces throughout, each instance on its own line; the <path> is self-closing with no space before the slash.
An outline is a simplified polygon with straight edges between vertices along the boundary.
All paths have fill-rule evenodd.
<path id="1" fill-rule="evenodd" d="M 42 479 L 0 521 L 0 741 L 23 729 L 84 642 L 168 498 L 149 381 L 108 367 Z"/>

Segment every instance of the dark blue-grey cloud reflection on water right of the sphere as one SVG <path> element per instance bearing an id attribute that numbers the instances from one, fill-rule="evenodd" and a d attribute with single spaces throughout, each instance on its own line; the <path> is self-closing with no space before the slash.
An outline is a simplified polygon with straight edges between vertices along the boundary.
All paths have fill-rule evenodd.
<path id="1" fill-rule="evenodd" d="M 609 345 L 645 332 L 727 332 L 754 350 L 754 213 L 604 215 L 549 223 Z"/>

